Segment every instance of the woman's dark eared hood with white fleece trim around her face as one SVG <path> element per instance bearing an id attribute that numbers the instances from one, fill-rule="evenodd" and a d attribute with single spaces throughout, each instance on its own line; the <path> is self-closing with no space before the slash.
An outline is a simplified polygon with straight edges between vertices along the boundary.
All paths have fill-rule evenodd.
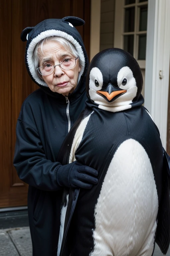
<path id="1" fill-rule="evenodd" d="M 46 83 L 38 76 L 36 67 L 33 63 L 33 52 L 34 49 L 42 39 L 48 36 L 60 36 L 70 41 L 78 51 L 79 59 L 83 63 L 81 67 L 81 71 L 78 77 L 78 84 L 72 95 L 77 95 L 77 92 L 80 94 L 84 92 L 85 88 L 81 88 L 82 82 L 86 77 L 87 67 L 88 67 L 88 58 L 87 53 L 84 47 L 83 40 L 74 26 L 81 26 L 85 22 L 78 18 L 68 16 L 62 19 L 47 19 L 43 20 L 35 27 L 27 27 L 21 33 L 21 40 L 26 41 L 26 52 L 25 52 L 25 63 L 27 71 L 31 77 L 31 79 L 39 85 L 47 94 L 54 97 L 62 97 L 58 93 L 52 92 Z M 84 83 L 83 83 L 84 84 Z M 78 96 L 78 95 L 77 95 Z"/>

